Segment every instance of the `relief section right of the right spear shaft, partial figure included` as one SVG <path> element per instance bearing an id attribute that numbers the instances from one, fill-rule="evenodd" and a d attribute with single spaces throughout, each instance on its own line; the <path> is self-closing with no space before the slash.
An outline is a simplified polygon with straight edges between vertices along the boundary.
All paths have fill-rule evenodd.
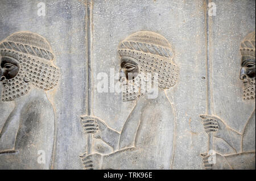
<path id="1" fill-rule="evenodd" d="M 204 166 L 255 169 L 255 2 L 212 2 L 220 15 L 208 19 L 210 99 L 201 118 L 216 155 L 203 154 Z"/>

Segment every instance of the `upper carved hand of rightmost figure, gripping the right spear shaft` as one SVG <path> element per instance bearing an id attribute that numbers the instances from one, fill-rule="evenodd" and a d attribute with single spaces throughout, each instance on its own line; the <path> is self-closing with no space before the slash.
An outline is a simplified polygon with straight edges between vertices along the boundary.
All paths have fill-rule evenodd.
<path id="1" fill-rule="evenodd" d="M 203 119 L 205 132 L 214 132 L 214 137 L 223 138 L 227 133 L 227 126 L 225 123 L 216 116 L 200 115 Z"/>

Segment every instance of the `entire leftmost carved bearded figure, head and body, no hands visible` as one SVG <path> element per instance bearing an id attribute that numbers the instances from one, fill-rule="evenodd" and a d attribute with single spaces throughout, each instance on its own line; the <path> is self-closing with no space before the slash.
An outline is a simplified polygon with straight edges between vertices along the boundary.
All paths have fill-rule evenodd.
<path id="1" fill-rule="evenodd" d="M 16 32 L 0 43 L 2 101 L 15 108 L 0 132 L 13 148 L 0 151 L 1 169 L 49 169 L 55 140 L 55 112 L 46 91 L 59 80 L 52 49 L 44 37 Z M 12 126 L 11 126 L 12 125 Z M 17 125 L 15 138 L 9 128 Z M 42 158 L 38 160 L 39 154 Z"/>

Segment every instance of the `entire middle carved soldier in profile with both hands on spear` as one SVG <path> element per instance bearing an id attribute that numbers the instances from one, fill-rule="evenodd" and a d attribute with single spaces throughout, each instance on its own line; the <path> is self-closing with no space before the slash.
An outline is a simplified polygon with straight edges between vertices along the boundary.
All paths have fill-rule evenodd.
<path id="1" fill-rule="evenodd" d="M 82 117 L 86 133 L 93 133 L 112 146 L 109 155 L 82 155 L 85 169 L 171 169 L 175 114 L 166 90 L 175 86 L 179 68 L 172 61 L 170 43 L 161 35 L 141 31 L 130 35 L 118 47 L 121 56 L 122 81 L 131 83 L 138 91 L 127 86 L 123 101 L 136 101 L 133 111 L 119 133 L 97 117 Z M 133 76 L 129 78 L 129 74 Z M 139 83 L 145 81 L 141 73 L 158 73 L 158 96 L 148 99 L 147 91 Z M 148 78 L 148 77 L 147 77 Z M 155 77 L 147 79 L 152 81 Z"/>

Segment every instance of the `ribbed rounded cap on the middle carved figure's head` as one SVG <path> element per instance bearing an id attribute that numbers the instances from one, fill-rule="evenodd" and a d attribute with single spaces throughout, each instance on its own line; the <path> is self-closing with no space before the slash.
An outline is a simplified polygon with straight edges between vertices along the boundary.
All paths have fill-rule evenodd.
<path id="1" fill-rule="evenodd" d="M 119 44 L 118 49 L 137 50 L 167 58 L 174 56 L 170 43 L 162 35 L 150 31 L 133 33 Z"/>

